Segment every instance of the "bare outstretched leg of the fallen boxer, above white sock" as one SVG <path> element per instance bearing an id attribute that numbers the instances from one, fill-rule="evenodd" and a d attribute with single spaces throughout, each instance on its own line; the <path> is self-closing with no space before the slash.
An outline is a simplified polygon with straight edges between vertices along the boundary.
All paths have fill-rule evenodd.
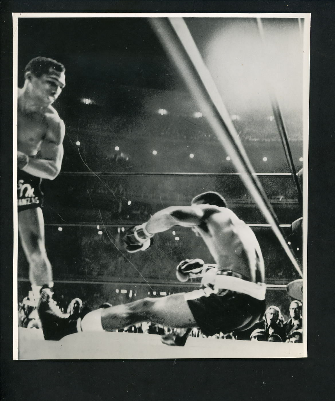
<path id="1" fill-rule="evenodd" d="M 101 323 L 107 331 L 146 321 L 170 327 L 197 326 L 184 293 L 144 298 L 101 310 Z"/>

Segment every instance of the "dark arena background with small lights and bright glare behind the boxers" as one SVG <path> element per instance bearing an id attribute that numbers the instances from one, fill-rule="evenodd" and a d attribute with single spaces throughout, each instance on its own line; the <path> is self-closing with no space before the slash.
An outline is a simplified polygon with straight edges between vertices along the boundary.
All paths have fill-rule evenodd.
<path id="1" fill-rule="evenodd" d="M 298 172 L 303 18 L 263 18 L 265 53 L 256 18 L 185 20 L 289 235 L 302 209 L 264 83 L 275 87 Z M 66 87 L 54 103 L 66 127 L 62 170 L 42 183 L 46 250 L 58 302 L 79 297 L 94 309 L 103 302 L 117 305 L 196 288 L 196 279 L 177 280 L 176 266 L 186 258 L 214 261 L 189 229 L 161 233 L 151 249 L 134 254 L 123 249 L 121 238 L 127 227 L 159 209 L 189 205 L 196 194 L 214 190 L 252 226 L 270 285 L 267 306 L 278 306 L 287 319 L 291 298 L 285 286 L 300 276 L 148 20 L 19 18 L 19 87 L 25 65 L 37 56 L 66 68 Z M 18 302 L 29 288 L 19 241 Z"/>

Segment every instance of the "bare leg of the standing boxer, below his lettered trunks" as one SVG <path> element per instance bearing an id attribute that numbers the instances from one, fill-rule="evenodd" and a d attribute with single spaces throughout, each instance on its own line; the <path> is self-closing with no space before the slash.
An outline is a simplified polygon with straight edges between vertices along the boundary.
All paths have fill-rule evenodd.
<path id="1" fill-rule="evenodd" d="M 29 263 L 30 283 L 36 286 L 49 284 L 52 282 L 52 268 L 46 255 L 42 209 L 38 207 L 20 211 L 18 231 Z"/>

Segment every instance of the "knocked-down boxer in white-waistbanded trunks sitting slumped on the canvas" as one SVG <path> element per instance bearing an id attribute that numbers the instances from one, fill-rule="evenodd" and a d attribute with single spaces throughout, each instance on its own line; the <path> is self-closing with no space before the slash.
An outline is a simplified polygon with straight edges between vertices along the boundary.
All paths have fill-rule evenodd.
<path id="1" fill-rule="evenodd" d="M 81 322 L 60 315 L 44 290 L 38 306 L 44 338 L 60 339 L 78 330 L 110 331 L 145 321 L 199 327 L 206 335 L 250 328 L 264 314 L 266 290 L 262 253 L 250 227 L 226 207 L 220 194 L 205 192 L 196 196 L 191 206 L 168 207 L 147 223 L 129 229 L 125 247 L 128 252 L 144 251 L 152 245 L 153 235 L 175 225 L 190 227 L 200 235 L 217 263 L 211 269 L 201 259 L 187 259 L 178 265 L 177 277 L 185 281 L 188 275 L 201 274 L 203 288 L 101 308 L 89 312 Z M 182 337 L 167 334 L 163 342 L 184 345 L 189 332 Z"/>

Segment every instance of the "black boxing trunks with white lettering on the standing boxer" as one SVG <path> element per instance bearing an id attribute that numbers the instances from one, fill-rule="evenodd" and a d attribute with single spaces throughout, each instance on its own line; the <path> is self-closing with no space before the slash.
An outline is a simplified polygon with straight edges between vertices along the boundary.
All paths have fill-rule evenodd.
<path id="1" fill-rule="evenodd" d="M 42 178 L 18 170 L 18 212 L 43 205 Z"/>

